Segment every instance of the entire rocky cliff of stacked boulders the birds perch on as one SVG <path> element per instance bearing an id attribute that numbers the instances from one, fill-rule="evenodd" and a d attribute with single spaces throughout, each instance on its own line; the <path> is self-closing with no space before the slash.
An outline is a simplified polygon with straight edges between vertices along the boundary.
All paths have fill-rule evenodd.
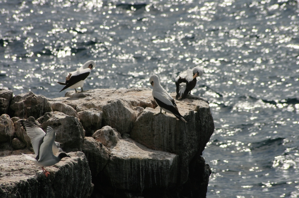
<path id="1" fill-rule="evenodd" d="M 175 94 L 172 96 L 175 97 Z M 64 197 L 68 197 L 69 193 L 77 193 L 79 189 L 82 193 L 74 197 L 88 197 L 93 186 L 91 176 L 94 184 L 92 197 L 206 196 L 211 170 L 201 155 L 214 131 L 214 123 L 208 101 L 204 98 L 189 95 L 187 99 L 176 101 L 187 123 L 171 114 L 154 115 L 159 108 L 156 108 L 151 89 L 148 88 L 95 89 L 83 93 L 70 91 L 65 97 L 54 99 L 28 92 L 12 99 L 6 98 L 2 103 L 11 104 L 5 110 L 10 117 L 6 114 L 0 117 L 0 124 L 7 123 L 0 125 L 0 128 L 5 129 L 0 135 L 6 137 L 6 142 L 0 146 L 0 156 L 4 156 L 0 159 L 11 163 L 11 167 L 16 163 L 14 157 L 18 159 L 21 169 L 16 169 L 14 173 L 30 170 L 26 173 L 26 181 L 35 178 L 37 184 L 34 185 L 47 186 L 43 187 L 43 193 L 34 190 L 43 195 L 51 191 L 51 195 L 48 193 L 49 196 L 47 194 L 45 197 L 61 194 L 61 191 L 64 191 Z M 19 126 L 19 119 L 28 119 L 44 130 L 51 126 L 56 131 L 56 141 L 60 142 L 62 150 L 82 151 L 85 154 L 78 152 L 81 160 L 74 160 L 72 167 L 66 165 L 62 171 L 64 175 L 61 180 L 68 178 L 73 182 L 71 185 L 61 181 L 59 185 L 63 190 L 53 188 L 56 182 L 51 177 L 55 177 L 56 171 L 53 171 L 53 176 L 50 171 L 51 177 L 45 178 L 40 174 L 39 167 L 16 156 L 32 151 L 30 139 L 28 142 L 26 133 Z M 16 146 L 12 146 L 13 142 L 26 148 L 16 150 Z M 88 165 L 83 163 L 84 160 Z M 47 170 L 60 167 L 64 162 Z M 26 164 L 30 164 L 30 167 L 23 167 Z M 88 169 L 89 176 L 85 169 Z M 20 197 L 36 197 L 21 190 L 23 184 L 18 184 L 24 183 L 21 175 L 14 178 L 16 185 L 13 192 L 20 192 Z M 2 181 L 0 178 L 1 184 Z M 83 182 L 88 183 L 85 184 L 86 189 L 78 187 Z M 12 191 L 1 192 L 12 195 Z"/>

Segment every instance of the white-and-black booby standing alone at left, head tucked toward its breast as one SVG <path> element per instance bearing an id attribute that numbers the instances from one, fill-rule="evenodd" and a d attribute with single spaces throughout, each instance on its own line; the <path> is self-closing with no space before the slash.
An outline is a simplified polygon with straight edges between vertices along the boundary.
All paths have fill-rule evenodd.
<path id="1" fill-rule="evenodd" d="M 60 92 L 66 88 L 72 88 L 75 89 L 76 93 L 78 93 L 76 90 L 76 88 L 78 87 L 81 87 L 81 92 L 83 92 L 84 81 L 95 66 L 96 63 L 94 61 L 87 61 L 80 68 L 77 68 L 76 71 L 69 73 L 65 78 L 65 83 L 57 82 L 58 84 L 65 85 L 65 87 L 61 89 Z"/>

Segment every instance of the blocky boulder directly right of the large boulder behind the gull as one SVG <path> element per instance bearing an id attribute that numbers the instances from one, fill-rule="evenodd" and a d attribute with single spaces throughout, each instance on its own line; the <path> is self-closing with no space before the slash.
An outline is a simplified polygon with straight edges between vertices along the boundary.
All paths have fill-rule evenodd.
<path id="1" fill-rule="evenodd" d="M 85 130 L 85 136 L 91 137 L 102 126 L 103 112 L 96 108 L 80 111 L 78 116 Z"/>

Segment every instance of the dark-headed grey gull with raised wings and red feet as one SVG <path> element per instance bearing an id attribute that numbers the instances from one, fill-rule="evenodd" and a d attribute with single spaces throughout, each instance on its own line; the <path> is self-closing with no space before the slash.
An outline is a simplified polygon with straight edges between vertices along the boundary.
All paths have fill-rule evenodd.
<path id="1" fill-rule="evenodd" d="M 25 129 L 27 135 L 31 139 L 31 144 L 36 155 L 36 158 L 32 158 L 29 155 L 25 155 L 27 160 L 31 160 L 36 166 L 40 166 L 43 169 L 43 173 L 46 177 L 50 173 L 44 169 L 47 166 L 53 166 L 58 163 L 64 157 L 70 157 L 64 152 L 59 153 L 58 156 L 55 156 L 53 153 L 57 151 L 53 149 L 55 144 L 56 133 L 51 127 L 47 127 L 47 133 L 45 133 L 41 128 L 28 122 L 26 120 L 21 120 L 21 124 Z M 54 146 L 55 147 L 55 146 Z"/>

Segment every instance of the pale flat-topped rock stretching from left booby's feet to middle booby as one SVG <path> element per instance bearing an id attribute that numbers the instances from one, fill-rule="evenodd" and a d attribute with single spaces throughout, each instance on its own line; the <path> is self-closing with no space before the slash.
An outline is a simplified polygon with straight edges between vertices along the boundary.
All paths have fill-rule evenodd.
<path id="1" fill-rule="evenodd" d="M 77 112 L 96 108 L 103 112 L 102 126 L 116 128 L 121 134 L 131 131 L 136 114 L 143 110 L 142 108 L 157 106 L 152 100 L 151 89 L 148 88 L 94 89 L 83 93 L 70 91 L 66 92 L 65 96 L 50 102 L 73 104 Z"/>

